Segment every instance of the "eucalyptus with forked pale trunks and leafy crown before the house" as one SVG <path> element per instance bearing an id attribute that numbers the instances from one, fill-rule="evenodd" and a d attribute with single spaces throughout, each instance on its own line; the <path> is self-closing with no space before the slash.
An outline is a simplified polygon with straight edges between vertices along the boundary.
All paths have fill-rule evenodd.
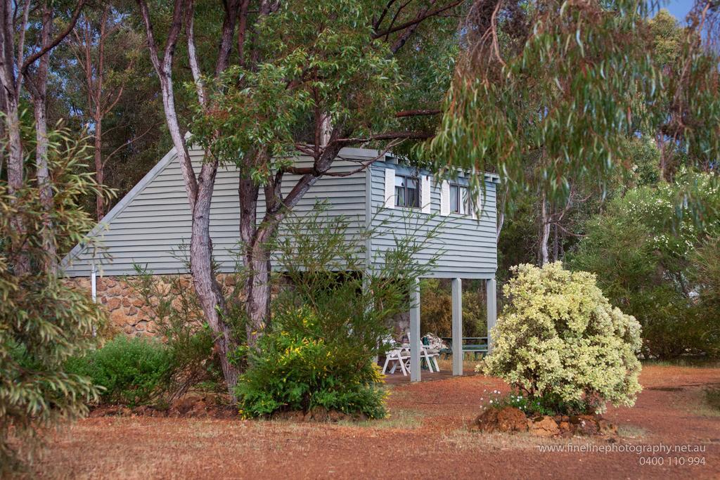
<path id="1" fill-rule="evenodd" d="M 386 152 L 405 140 L 431 135 L 403 122 L 438 108 L 438 92 L 447 84 L 439 77 L 444 73 L 447 78 L 449 69 L 443 68 L 442 55 L 432 46 L 450 45 L 457 27 L 451 14 L 462 0 L 228 1 L 223 4 L 216 63 L 205 75 L 207 55 L 197 54 L 194 35 L 194 22 L 202 17 L 195 15 L 194 3 L 175 2 L 162 57 L 150 9 L 144 0 L 139 4 L 193 212 L 193 284 L 218 334 L 216 346 L 232 393 L 237 370 L 227 356 L 240 339 L 233 336 L 226 299 L 212 272 L 209 232 L 217 168 L 228 163 L 239 171 L 246 335 L 248 344 L 254 345 L 269 321 L 269 243 L 287 212 L 318 178 L 336 175 L 330 167 L 343 147 L 372 144 Z M 207 5 L 198 5 L 199 11 L 201 6 L 207 12 Z M 173 80 L 173 58 L 183 28 L 193 76 L 189 89 L 197 99 L 190 130 L 192 140 L 206 150 L 199 172 L 187 151 Z M 418 68 L 430 60 L 436 61 L 434 68 Z M 411 72 L 405 76 L 404 62 Z M 423 78 L 436 74 L 434 81 Z M 413 91 L 415 85 L 427 88 Z M 312 166 L 294 165 L 292 158 L 298 153 L 310 156 Z M 371 164 L 361 163 L 356 170 Z M 290 174 L 295 176 L 292 188 L 284 195 L 282 184 L 291 181 Z M 256 222 L 261 190 L 265 214 Z"/>

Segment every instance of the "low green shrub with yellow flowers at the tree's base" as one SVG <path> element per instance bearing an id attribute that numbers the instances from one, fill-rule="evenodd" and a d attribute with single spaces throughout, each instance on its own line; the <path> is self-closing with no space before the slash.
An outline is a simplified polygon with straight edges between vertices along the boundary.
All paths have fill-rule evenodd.
<path id="1" fill-rule="evenodd" d="M 325 407 L 350 415 L 386 415 L 382 376 L 361 350 L 326 341 L 321 321 L 307 308 L 275 317 L 273 332 L 249 353 L 250 368 L 236 391 L 246 417 Z"/>

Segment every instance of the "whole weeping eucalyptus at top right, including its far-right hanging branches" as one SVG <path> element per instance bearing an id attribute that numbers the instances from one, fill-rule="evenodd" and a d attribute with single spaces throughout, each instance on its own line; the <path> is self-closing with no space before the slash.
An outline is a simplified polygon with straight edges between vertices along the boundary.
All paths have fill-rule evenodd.
<path id="1" fill-rule="evenodd" d="M 562 212 L 577 184 L 604 189 L 630 165 L 627 140 L 641 132 L 662 130 L 694 149 L 696 163 L 712 158 L 720 146 L 717 58 L 696 32 L 714 2 L 701 2 L 705 17 L 683 31 L 675 77 L 651 54 L 652 3 L 474 1 L 427 153 L 442 159 L 439 168 L 500 173 L 509 204 L 537 186 L 548 214 Z M 473 183 L 483 188 L 480 176 Z"/>

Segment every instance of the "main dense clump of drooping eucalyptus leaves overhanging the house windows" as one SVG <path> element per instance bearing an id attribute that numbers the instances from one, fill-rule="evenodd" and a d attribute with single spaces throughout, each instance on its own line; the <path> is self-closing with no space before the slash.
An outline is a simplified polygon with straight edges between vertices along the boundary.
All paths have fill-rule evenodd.
<path id="1" fill-rule="evenodd" d="M 510 3 L 499 25 L 480 12 L 469 17 L 469 47 L 428 155 L 439 168 L 501 173 L 509 201 L 528 175 L 551 199 L 564 199 L 572 181 L 598 184 L 622 165 L 636 96 L 656 89 L 643 39 L 647 5 Z M 497 39 L 491 27 L 500 27 Z"/>

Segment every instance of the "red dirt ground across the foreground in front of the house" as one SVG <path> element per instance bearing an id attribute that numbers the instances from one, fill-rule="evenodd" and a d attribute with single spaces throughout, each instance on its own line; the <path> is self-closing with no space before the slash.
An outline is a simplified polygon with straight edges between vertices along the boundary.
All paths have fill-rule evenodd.
<path id="1" fill-rule="evenodd" d="M 609 408 L 617 443 L 469 433 L 483 376 L 392 387 L 389 420 L 364 424 L 99 417 L 53 435 L 35 474 L 43 478 L 720 478 L 720 414 L 703 387 L 720 368 L 647 366 L 633 408 Z M 698 453 L 541 452 L 690 445 Z M 643 447 L 647 448 L 647 447 Z M 674 448 L 674 447 L 673 447 Z M 696 458 L 698 460 L 696 460 Z M 701 461 L 704 464 L 690 465 Z M 652 463 L 652 464 L 649 464 Z"/>

